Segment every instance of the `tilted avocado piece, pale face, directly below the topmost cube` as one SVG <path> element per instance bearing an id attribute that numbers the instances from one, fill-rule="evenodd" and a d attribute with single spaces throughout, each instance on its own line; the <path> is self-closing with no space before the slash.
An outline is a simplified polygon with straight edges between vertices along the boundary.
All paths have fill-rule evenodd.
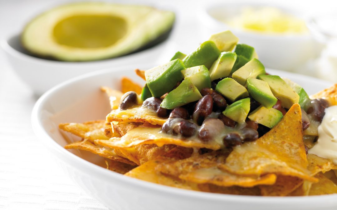
<path id="1" fill-rule="evenodd" d="M 236 57 L 235 52 L 221 52 L 218 59 L 214 61 L 212 67 L 210 68 L 209 73 L 211 81 L 222 77 L 228 77 L 231 73 Z"/>

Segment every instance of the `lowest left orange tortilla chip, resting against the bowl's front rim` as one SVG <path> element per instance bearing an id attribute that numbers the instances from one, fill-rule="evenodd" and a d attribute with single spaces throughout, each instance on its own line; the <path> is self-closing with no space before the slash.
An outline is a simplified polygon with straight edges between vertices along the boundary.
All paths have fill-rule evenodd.
<path id="1" fill-rule="evenodd" d="M 141 166 L 138 166 L 131 171 L 127 172 L 125 175 L 130 176 L 133 178 L 141 179 L 144 181 L 149 181 L 157 184 L 163 184 L 166 186 L 171 187 L 178 187 L 182 189 L 187 190 L 195 190 L 200 191 L 199 187 L 196 183 L 192 183 L 189 181 L 184 181 L 177 179 L 175 177 L 170 177 L 167 175 L 164 175 L 160 172 L 157 172 L 155 170 L 155 167 L 158 164 L 165 163 L 167 161 L 170 161 L 171 159 L 158 159 L 158 160 L 151 160 Z"/>

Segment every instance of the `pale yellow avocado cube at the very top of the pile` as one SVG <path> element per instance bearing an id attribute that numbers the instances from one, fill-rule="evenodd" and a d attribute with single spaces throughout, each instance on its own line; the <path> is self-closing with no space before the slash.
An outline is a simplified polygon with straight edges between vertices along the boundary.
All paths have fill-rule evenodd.
<path id="1" fill-rule="evenodd" d="M 213 41 L 218 49 L 223 51 L 232 51 L 238 43 L 239 38 L 236 37 L 231 31 L 224 31 L 218 34 L 213 34 L 210 39 Z"/>

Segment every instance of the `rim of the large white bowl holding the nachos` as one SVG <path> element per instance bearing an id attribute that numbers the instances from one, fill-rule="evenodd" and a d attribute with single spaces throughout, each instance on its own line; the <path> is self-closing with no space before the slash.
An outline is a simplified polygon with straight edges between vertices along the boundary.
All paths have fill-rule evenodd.
<path id="1" fill-rule="evenodd" d="M 127 66 L 120 67 L 120 70 L 127 69 Z M 268 71 L 272 71 L 274 73 L 282 73 L 282 71 L 268 69 Z M 337 205 L 337 194 L 335 195 L 323 195 L 323 196 L 298 196 L 298 197 L 265 197 L 265 196 L 242 196 L 242 195 L 228 195 L 228 194 L 217 194 L 217 193 L 207 193 L 207 192 L 197 192 L 192 190 L 184 190 L 180 188 L 155 184 L 139 179 L 135 179 L 132 177 L 123 176 L 122 174 L 118 174 L 113 171 L 106 170 L 100 166 L 92 164 L 74 154 L 64 149 L 61 145 L 59 145 L 54 139 L 48 135 L 48 133 L 43 128 L 43 123 L 40 121 L 41 110 L 48 101 L 50 97 L 53 97 L 55 93 L 57 93 L 61 89 L 69 88 L 73 83 L 80 83 L 84 79 L 88 79 L 94 76 L 106 76 L 112 73 L 116 73 L 116 70 L 112 69 L 103 69 L 96 72 L 87 73 L 81 75 L 79 77 L 75 77 L 69 79 L 65 82 L 56 85 L 51 88 L 47 92 L 45 92 L 35 103 L 32 114 L 31 114 L 31 123 L 34 130 L 35 135 L 41 141 L 41 143 L 46 146 L 50 152 L 53 153 L 56 158 L 61 159 L 63 163 L 77 168 L 78 170 L 87 173 L 94 173 L 97 177 L 105 177 L 109 179 L 115 179 L 122 184 L 132 185 L 133 187 L 137 187 L 143 190 L 152 190 L 160 192 L 162 195 L 170 195 L 170 196 L 184 196 L 186 198 L 191 199 L 204 199 L 209 201 L 218 201 L 218 202 L 240 202 L 240 203 L 249 203 L 249 204 L 274 204 L 274 205 L 298 205 L 305 204 L 307 206 L 317 206 L 320 207 L 323 202 L 329 204 L 329 206 Z M 330 84 L 330 82 L 316 79 L 309 76 L 302 76 L 294 73 L 286 72 L 286 74 L 290 74 L 293 76 L 301 76 L 305 78 L 310 78 L 311 80 L 317 80 L 320 82 L 326 82 Z M 335 200 L 335 203 L 332 202 Z"/>

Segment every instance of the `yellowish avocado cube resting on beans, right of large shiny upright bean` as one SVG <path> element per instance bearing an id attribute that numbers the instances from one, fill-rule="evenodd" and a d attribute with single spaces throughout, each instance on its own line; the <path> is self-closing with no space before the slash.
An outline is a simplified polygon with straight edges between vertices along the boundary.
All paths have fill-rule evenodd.
<path id="1" fill-rule="evenodd" d="M 247 89 L 232 78 L 224 78 L 215 87 L 215 90 L 231 102 L 248 97 Z"/>

